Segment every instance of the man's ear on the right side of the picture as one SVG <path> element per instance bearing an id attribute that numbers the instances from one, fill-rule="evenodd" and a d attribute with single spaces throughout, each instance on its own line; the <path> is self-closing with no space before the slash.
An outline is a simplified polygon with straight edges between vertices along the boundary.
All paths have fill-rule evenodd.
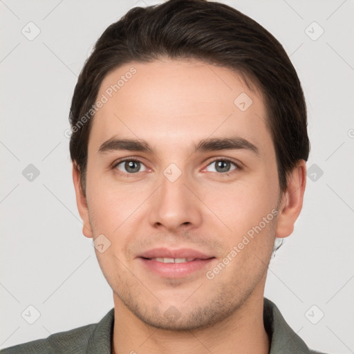
<path id="1" fill-rule="evenodd" d="M 288 187 L 281 196 L 277 230 L 275 236 L 287 237 L 294 231 L 294 224 L 299 216 L 306 187 L 306 161 L 299 160 L 288 175 Z"/>

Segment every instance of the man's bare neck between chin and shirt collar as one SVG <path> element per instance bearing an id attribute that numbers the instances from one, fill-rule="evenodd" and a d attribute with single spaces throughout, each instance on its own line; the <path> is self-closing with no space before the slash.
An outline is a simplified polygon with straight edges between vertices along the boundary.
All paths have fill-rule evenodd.
<path id="1" fill-rule="evenodd" d="M 113 354 L 254 353 L 268 354 L 263 325 L 263 292 L 255 294 L 223 321 L 207 328 L 174 331 L 142 322 L 114 294 Z"/>

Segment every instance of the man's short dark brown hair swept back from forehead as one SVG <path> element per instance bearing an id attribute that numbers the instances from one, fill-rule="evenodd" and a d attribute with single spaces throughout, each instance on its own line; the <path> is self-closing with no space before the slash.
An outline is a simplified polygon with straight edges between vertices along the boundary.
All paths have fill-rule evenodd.
<path id="1" fill-rule="evenodd" d="M 104 77 L 129 62 L 161 57 L 193 58 L 249 77 L 265 97 L 268 126 L 277 156 L 281 192 L 298 160 L 308 159 L 310 142 L 304 93 L 285 50 L 268 30 L 223 3 L 169 0 L 132 8 L 96 41 L 73 93 L 69 120 L 71 159 L 80 169 L 85 193 L 88 138 L 98 91 Z M 84 116 L 80 129 L 73 130 Z"/>

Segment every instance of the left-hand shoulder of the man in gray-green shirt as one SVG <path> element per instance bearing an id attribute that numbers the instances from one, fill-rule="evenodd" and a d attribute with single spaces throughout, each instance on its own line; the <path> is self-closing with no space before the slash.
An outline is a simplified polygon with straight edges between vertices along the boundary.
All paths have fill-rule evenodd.
<path id="1" fill-rule="evenodd" d="M 86 354 L 90 353 L 93 347 L 95 350 L 106 349 L 110 347 L 113 318 L 112 309 L 97 324 L 88 324 L 65 332 L 54 333 L 45 339 L 10 346 L 2 349 L 0 354 Z"/>

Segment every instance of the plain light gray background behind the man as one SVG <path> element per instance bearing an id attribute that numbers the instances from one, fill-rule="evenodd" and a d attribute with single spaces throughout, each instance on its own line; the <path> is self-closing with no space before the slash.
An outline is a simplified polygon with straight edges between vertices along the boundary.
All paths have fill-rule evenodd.
<path id="1" fill-rule="evenodd" d="M 223 2 L 259 21 L 290 55 L 308 104 L 308 167 L 324 172 L 308 177 L 304 209 L 271 261 L 265 295 L 308 346 L 353 353 L 354 3 Z M 0 348 L 97 322 L 113 307 L 82 235 L 64 131 L 91 46 L 145 3 L 0 1 Z M 21 32 L 35 33 L 30 21 L 41 31 L 32 41 Z M 313 21 L 324 30 L 317 40 L 309 37 L 321 31 Z M 40 171 L 32 182 L 22 175 L 29 164 Z M 40 313 L 34 324 L 21 317 L 30 305 Z"/>

